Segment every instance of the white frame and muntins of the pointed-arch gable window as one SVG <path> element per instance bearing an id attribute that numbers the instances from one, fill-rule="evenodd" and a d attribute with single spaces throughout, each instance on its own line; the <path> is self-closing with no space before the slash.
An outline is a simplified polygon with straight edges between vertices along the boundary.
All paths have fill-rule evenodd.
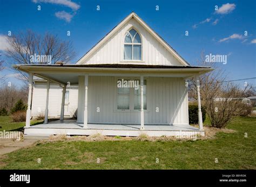
<path id="1" fill-rule="evenodd" d="M 140 43 L 134 43 L 133 42 L 133 40 L 134 40 L 134 38 L 136 37 L 136 34 L 134 35 L 134 37 L 132 38 L 132 36 L 131 36 L 131 33 L 130 33 L 130 31 L 131 30 L 135 30 L 136 31 L 136 34 L 138 34 L 139 35 L 139 37 L 140 37 Z M 130 42 L 125 42 L 125 37 L 126 37 L 126 34 L 127 33 L 129 33 L 130 34 L 130 37 L 131 37 L 131 39 L 132 39 L 132 42 L 130 43 Z M 122 56 L 123 56 L 123 62 L 144 62 L 143 61 L 143 41 L 142 41 L 142 35 L 137 31 L 137 29 L 136 28 L 134 28 L 134 27 L 131 27 L 129 30 L 127 30 L 126 32 L 125 32 L 125 34 L 124 34 L 124 38 L 123 38 L 123 41 L 122 41 L 122 44 L 123 44 L 123 51 L 122 51 Z M 132 59 L 131 60 L 129 60 L 129 59 L 124 59 L 124 46 L 125 45 L 131 45 L 132 46 Z M 133 60 L 133 46 L 134 45 L 140 45 L 140 50 L 141 50 L 141 54 L 140 54 L 140 60 Z"/>

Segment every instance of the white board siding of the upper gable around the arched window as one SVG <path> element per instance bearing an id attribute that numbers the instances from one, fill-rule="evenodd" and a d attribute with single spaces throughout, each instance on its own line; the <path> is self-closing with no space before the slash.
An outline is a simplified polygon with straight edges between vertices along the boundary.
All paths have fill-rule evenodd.
<path id="1" fill-rule="evenodd" d="M 96 52 L 82 62 L 83 64 L 104 64 L 104 63 L 128 63 L 123 61 L 125 33 L 134 28 L 142 39 L 142 62 L 136 64 L 157 64 L 183 66 L 176 57 L 160 44 L 145 28 L 134 19 L 127 21 L 109 40 L 107 40 Z M 157 60 L 158 59 L 158 60 Z"/>

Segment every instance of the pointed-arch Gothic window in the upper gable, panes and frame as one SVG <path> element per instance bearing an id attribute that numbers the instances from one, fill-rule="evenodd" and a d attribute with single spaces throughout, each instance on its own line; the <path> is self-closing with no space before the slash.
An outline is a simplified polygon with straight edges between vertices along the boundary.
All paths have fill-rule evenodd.
<path id="1" fill-rule="evenodd" d="M 125 34 L 124 60 L 142 60 L 142 40 L 133 28 Z"/>

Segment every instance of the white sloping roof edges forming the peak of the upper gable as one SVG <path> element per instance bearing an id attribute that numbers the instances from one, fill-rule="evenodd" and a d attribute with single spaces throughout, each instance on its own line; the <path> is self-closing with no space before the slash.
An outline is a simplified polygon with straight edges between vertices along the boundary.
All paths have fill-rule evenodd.
<path id="1" fill-rule="evenodd" d="M 174 57 L 178 59 L 178 61 L 183 64 L 184 66 L 190 66 L 190 64 L 183 59 L 167 42 L 160 37 L 159 34 L 157 34 L 150 26 L 148 26 L 141 18 L 139 18 L 136 13 L 132 12 L 129 16 L 127 16 L 124 20 L 122 20 L 116 27 L 114 27 L 109 33 L 105 35 L 104 38 L 102 38 L 95 46 L 93 46 L 83 57 L 81 57 L 76 64 L 81 64 L 85 59 L 87 59 L 93 52 L 97 51 L 98 48 L 100 48 L 108 39 L 110 39 L 114 33 L 116 33 L 124 24 L 127 23 L 130 19 L 135 19 L 138 21 L 139 24 L 141 24 L 146 31 L 148 31 L 157 41 L 160 42 L 161 45 L 163 45 L 167 51 L 169 51 Z"/>

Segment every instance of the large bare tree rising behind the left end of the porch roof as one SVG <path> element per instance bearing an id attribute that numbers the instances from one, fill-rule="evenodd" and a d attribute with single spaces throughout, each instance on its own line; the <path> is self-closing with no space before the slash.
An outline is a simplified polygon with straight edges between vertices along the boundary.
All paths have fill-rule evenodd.
<path id="1" fill-rule="evenodd" d="M 6 56 L 9 64 L 55 64 L 58 61 L 70 63 L 75 57 L 72 42 L 62 41 L 57 35 L 46 33 L 43 37 L 31 30 L 8 37 L 9 47 Z M 36 58 L 33 58 L 36 57 Z M 45 61 L 45 57 L 50 59 Z M 43 59 L 43 60 L 42 60 Z M 48 60 L 49 60 L 48 59 Z M 28 75 L 19 71 L 22 79 Z"/>

